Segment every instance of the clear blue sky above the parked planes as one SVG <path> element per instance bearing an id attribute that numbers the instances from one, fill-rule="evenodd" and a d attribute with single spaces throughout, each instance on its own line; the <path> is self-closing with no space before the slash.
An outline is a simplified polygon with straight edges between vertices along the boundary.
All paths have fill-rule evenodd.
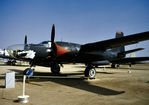
<path id="1" fill-rule="evenodd" d="M 56 41 L 80 44 L 149 31 L 149 0 L 0 0 L 0 48 L 50 40 L 52 24 Z M 137 56 L 149 56 L 149 41 L 126 47 L 146 48 Z"/>

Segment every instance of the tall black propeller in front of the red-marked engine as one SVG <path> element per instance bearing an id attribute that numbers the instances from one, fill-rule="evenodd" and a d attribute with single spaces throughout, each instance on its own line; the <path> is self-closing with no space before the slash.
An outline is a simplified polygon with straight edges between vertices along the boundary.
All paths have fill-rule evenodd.
<path id="1" fill-rule="evenodd" d="M 55 39 L 55 24 L 52 25 L 52 30 L 51 30 L 51 49 L 52 49 L 52 58 L 55 58 L 57 56 L 57 49 L 54 43 Z"/>

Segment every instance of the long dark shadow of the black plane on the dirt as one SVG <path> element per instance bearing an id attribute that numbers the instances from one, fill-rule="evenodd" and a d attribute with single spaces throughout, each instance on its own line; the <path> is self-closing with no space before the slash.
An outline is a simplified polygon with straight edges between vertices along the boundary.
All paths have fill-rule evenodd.
<path id="1" fill-rule="evenodd" d="M 23 72 L 23 71 L 15 70 L 15 69 L 9 69 L 9 70 L 17 72 L 19 74 L 22 74 L 22 72 Z M 106 72 L 103 72 L 103 73 L 108 74 Z M 81 75 L 81 77 L 80 77 L 80 75 Z M 91 81 L 87 81 L 85 78 L 83 78 L 82 75 L 84 75 L 84 73 L 80 73 L 80 72 L 65 73 L 65 74 L 59 74 L 59 75 L 54 75 L 49 72 L 44 72 L 44 73 L 43 72 L 34 72 L 34 76 L 37 76 L 37 77 L 31 77 L 30 80 L 33 80 L 36 82 L 51 81 L 51 82 L 58 83 L 61 85 L 73 87 L 76 89 L 88 91 L 88 92 L 95 93 L 95 94 L 106 95 L 106 96 L 107 95 L 119 95 L 119 94 L 125 93 L 125 91 L 117 91 L 117 90 L 105 88 L 102 86 L 92 85 L 92 84 L 90 84 Z M 45 76 L 45 77 L 42 78 L 40 76 L 43 76 L 43 77 Z M 16 77 L 16 79 L 18 79 L 18 80 L 16 80 L 17 82 L 22 82 L 21 76 Z M 36 84 L 36 83 L 30 83 L 30 84 L 42 86 L 42 85 Z"/>

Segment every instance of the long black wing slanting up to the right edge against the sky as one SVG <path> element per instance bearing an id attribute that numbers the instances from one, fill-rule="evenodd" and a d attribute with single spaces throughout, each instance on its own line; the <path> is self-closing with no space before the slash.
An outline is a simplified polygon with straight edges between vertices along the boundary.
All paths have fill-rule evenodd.
<path id="1" fill-rule="evenodd" d="M 117 48 L 125 45 L 135 44 L 140 41 L 149 40 L 149 31 L 133 34 L 129 36 L 123 36 L 120 38 L 114 38 L 105 41 L 99 41 L 95 43 L 88 43 L 81 46 L 80 52 L 105 50 L 109 48 Z"/>

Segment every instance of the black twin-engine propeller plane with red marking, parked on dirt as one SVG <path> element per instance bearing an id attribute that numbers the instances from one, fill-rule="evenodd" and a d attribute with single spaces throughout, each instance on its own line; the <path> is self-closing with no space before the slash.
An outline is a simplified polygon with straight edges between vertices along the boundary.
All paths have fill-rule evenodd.
<path id="1" fill-rule="evenodd" d="M 149 57 L 125 58 L 127 53 L 142 49 L 125 51 L 124 48 L 125 45 L 149 40 L 149 32 L 129 36 L 123 36 L 122 32 L 117 32 L 114 39 L 84 45 L 63 41 L 55 42 L 54 39 L 55 25 L 53 24 L 51 41 L 43 41 L 39 44 L 27 44 L 27 36 L 25 36 L 24 44 L 9 46 L 7 51 L 11 58 L 29 61 L 30 69 L 35 65 L 48 66 L 51 67 L 53 73 L 59 73 L 60 65 L 65 63 L 84 63 L 86 64 L 84 74 L 89 78 L 95 77 L 96 70 L 94 65 L 96 64 L 117 64 L 125 61 L 149 60 Z"/>

